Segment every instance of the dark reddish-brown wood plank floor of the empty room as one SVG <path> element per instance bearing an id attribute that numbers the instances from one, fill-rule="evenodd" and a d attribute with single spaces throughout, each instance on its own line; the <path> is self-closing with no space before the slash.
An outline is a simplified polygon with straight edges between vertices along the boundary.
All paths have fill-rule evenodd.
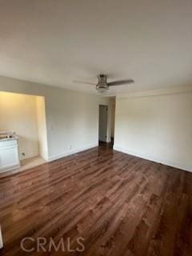
<path id="1" fill-rule="evenodd" d="M 100 146 L 0 179 L 0 223 L 3 256 L 191 255 L 192 174 Z"/>

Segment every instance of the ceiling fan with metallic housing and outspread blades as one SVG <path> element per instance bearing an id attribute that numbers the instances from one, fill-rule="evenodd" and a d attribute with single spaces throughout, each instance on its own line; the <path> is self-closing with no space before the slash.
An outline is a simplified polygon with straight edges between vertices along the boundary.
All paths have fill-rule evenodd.
<path id="1" fill-rule="evenodd" d="M 125 84 L 134 83 L 133 79 L 127 79 L 127 80 L 118 80 L 114 82 L 107 82 L 107 75 L 106 74 L 98 74 L 98 83 L 92 83 L 92 82 L 82 82 L 82 81 L 74 81 L 78 83 L 84 83 L 87 85 L 94 85 L 96 86 L 96 90 L 98 90 L 100 93 L 105 92 L 106 90 L 109 90 L 110 86 L 122 86 Z"/>

